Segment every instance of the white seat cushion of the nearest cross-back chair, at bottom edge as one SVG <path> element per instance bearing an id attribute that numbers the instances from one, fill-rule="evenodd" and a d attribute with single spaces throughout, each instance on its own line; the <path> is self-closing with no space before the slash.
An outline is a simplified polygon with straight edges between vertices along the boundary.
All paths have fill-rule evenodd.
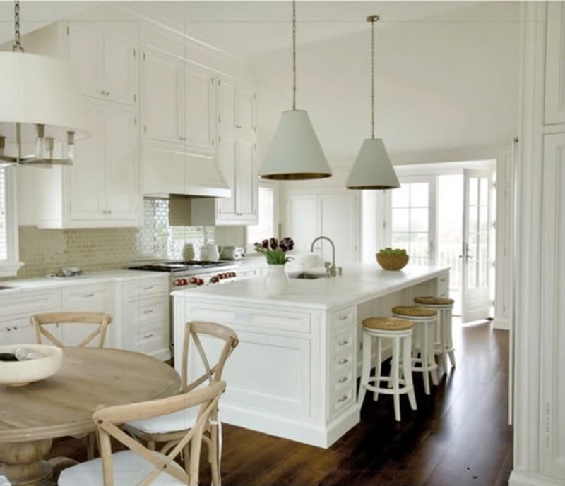
<path id="1" fill-rule="evenodd" d="M 165 458 L 163 454 L 153 453 Z M 179 464 L 172 462 L 172 467 L 183 470 Z M 133 451 L 121 451 L 112 454 L 112 470 L 114 471 L 115 486 L 136 486 L 155 467 L 149 461 Z M 77 464 L 71 468 L 64 469 L 59 476 L 59 486 L 102 486 L 102 459 Z M 151 486 L 186 486 L 182 481 L 173 478 L 167 473 L 160 473 Z"/>

